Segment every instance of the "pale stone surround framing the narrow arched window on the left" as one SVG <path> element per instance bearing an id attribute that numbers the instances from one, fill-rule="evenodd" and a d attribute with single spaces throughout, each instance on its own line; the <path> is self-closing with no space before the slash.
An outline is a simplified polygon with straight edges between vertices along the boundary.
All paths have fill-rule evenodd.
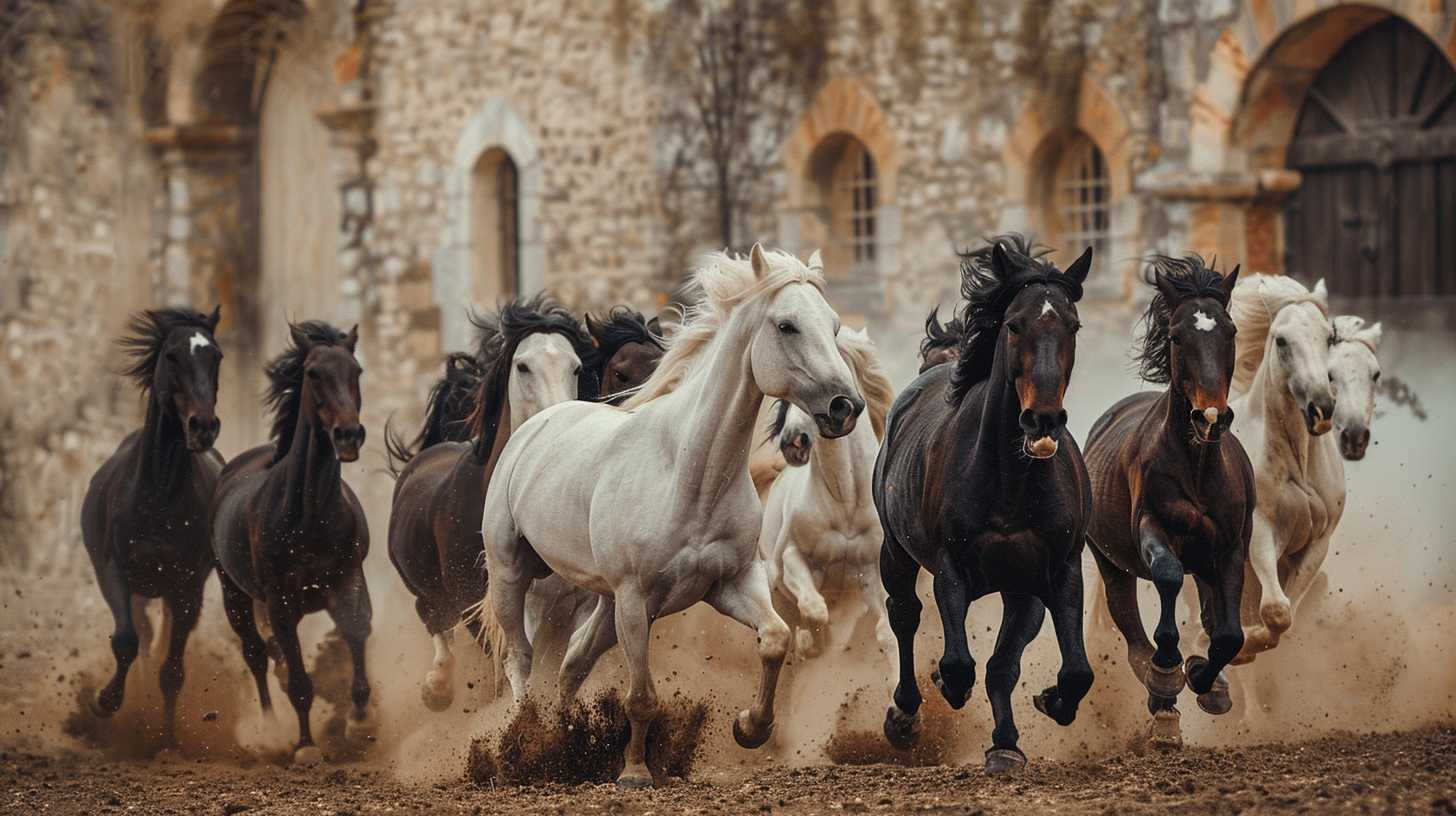
<path id="1" fill-rule="evenodd" d="M 446 179 L 448 232 L 431 264 L 431 286 L 435 307 L 440 309 L 440 344 L 447 351 L 467 348 L 470 344 L 470 323 L 462 305 L 479 302 L 475 252 L 482 249 L 473 238 L 478 232 L 475 210 L 479 207 L 473 181 L 479 175 L 476 170 L 480 159 L 492 150 L 504 152 L 515 166 L 520 293 L 533 294 L 546 286 L 546 243 L 540 226 L 540 149 L 526 119 L 511 103 L 502 96 L 492 96 L 460 131 Z"/>

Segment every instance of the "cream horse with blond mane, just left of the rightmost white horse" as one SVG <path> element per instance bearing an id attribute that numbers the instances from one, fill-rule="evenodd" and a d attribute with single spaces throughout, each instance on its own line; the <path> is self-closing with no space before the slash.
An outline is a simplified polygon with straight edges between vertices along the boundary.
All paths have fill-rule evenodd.
<path id="1" fill-rule="evenodd" d="M 1243 581 L 1243 648 L 1236 663 L 1278 646 L 1293 605 L 1315 581 L 1345 507 L 1334 427 L 1325 283 L 1249 275 L 1233 289 L 1239 326 L 1233 433 L 1254 462 L 1258 507 Z"/>

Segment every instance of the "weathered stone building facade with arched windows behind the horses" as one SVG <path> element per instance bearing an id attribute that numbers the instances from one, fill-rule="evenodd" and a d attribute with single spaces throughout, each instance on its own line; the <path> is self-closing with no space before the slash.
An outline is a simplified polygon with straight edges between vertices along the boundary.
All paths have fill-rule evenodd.
<path id="1" fill-rule="evenodd" d="M 0 99 L 7 539 L 71 513 L 57 497 L 135 421 L 99 376 L 132 307 L 223 305 L 232 453 L 262 437 L 259 364 L 288 318 L 361 323 L 381 427 L 414 418 L 441 354 L 467 344 L 467 305 L 549 289 L 581 309 L 657 310 L 689 251 L 713 246 L 696 227 L 712 219 L 665 197 L 646 34 L 661 1 L 68 3 L 102 22 L 83 42 L 33 26 Z M 1393 160 L 1456 185 L 1440 175 L 1456 159 L 1452 102 L 1428 96 L 1456 60 L 1447 3 L 826 7 L 826 80 L 782 122 L 778 168 L 741 220 L 767 245 L 824 246 L 852 319 L 911 325 L 954 297 L 952 249 L 1008 229 L 1095 245 L 1104 297 L 1131 294 L 1147 252 L 1283 271 L 1313 166 L 1299 163 L 1302 111 L 1380 25 L 1434 54 L 1395 68 L 1434 90 L 1409 101 L 1428 133 L 1396 138 Z M 1389 153 L 1393 125 L 1367 124 L 1361 138 Z M 1364 144 L 1322 138 L 1338 141 L 1326 153 Z M 60 475 L 26 485 L 31 468 Z"/>

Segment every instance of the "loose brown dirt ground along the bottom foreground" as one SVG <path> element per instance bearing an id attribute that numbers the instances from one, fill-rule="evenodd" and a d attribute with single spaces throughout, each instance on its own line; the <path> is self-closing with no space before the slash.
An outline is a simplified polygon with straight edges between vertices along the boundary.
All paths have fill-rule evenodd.
<path id="1" fill-rule="evenodd" d="M 6 813 L 1456 813 L 1456 729 L 1096 762 L 1040 762 L 1010 778 L 976 766 L 782 768 L 750 780 L 480 788 L 412 785 L 367 765 L 0 758 Z"/>

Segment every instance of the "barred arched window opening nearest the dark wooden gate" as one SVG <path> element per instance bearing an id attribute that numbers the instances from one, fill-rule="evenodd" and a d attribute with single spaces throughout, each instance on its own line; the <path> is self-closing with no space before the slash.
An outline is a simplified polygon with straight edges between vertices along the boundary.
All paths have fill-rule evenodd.
<path id="1" fill-rule="evenodd" d="M 1111 185 L 1102 152 L 1082 131 L 1067 134 L 1054 179 L 1054 230 L 1064 252 L 1092 246 L 1105 258 L 1112 238 Z"/>

